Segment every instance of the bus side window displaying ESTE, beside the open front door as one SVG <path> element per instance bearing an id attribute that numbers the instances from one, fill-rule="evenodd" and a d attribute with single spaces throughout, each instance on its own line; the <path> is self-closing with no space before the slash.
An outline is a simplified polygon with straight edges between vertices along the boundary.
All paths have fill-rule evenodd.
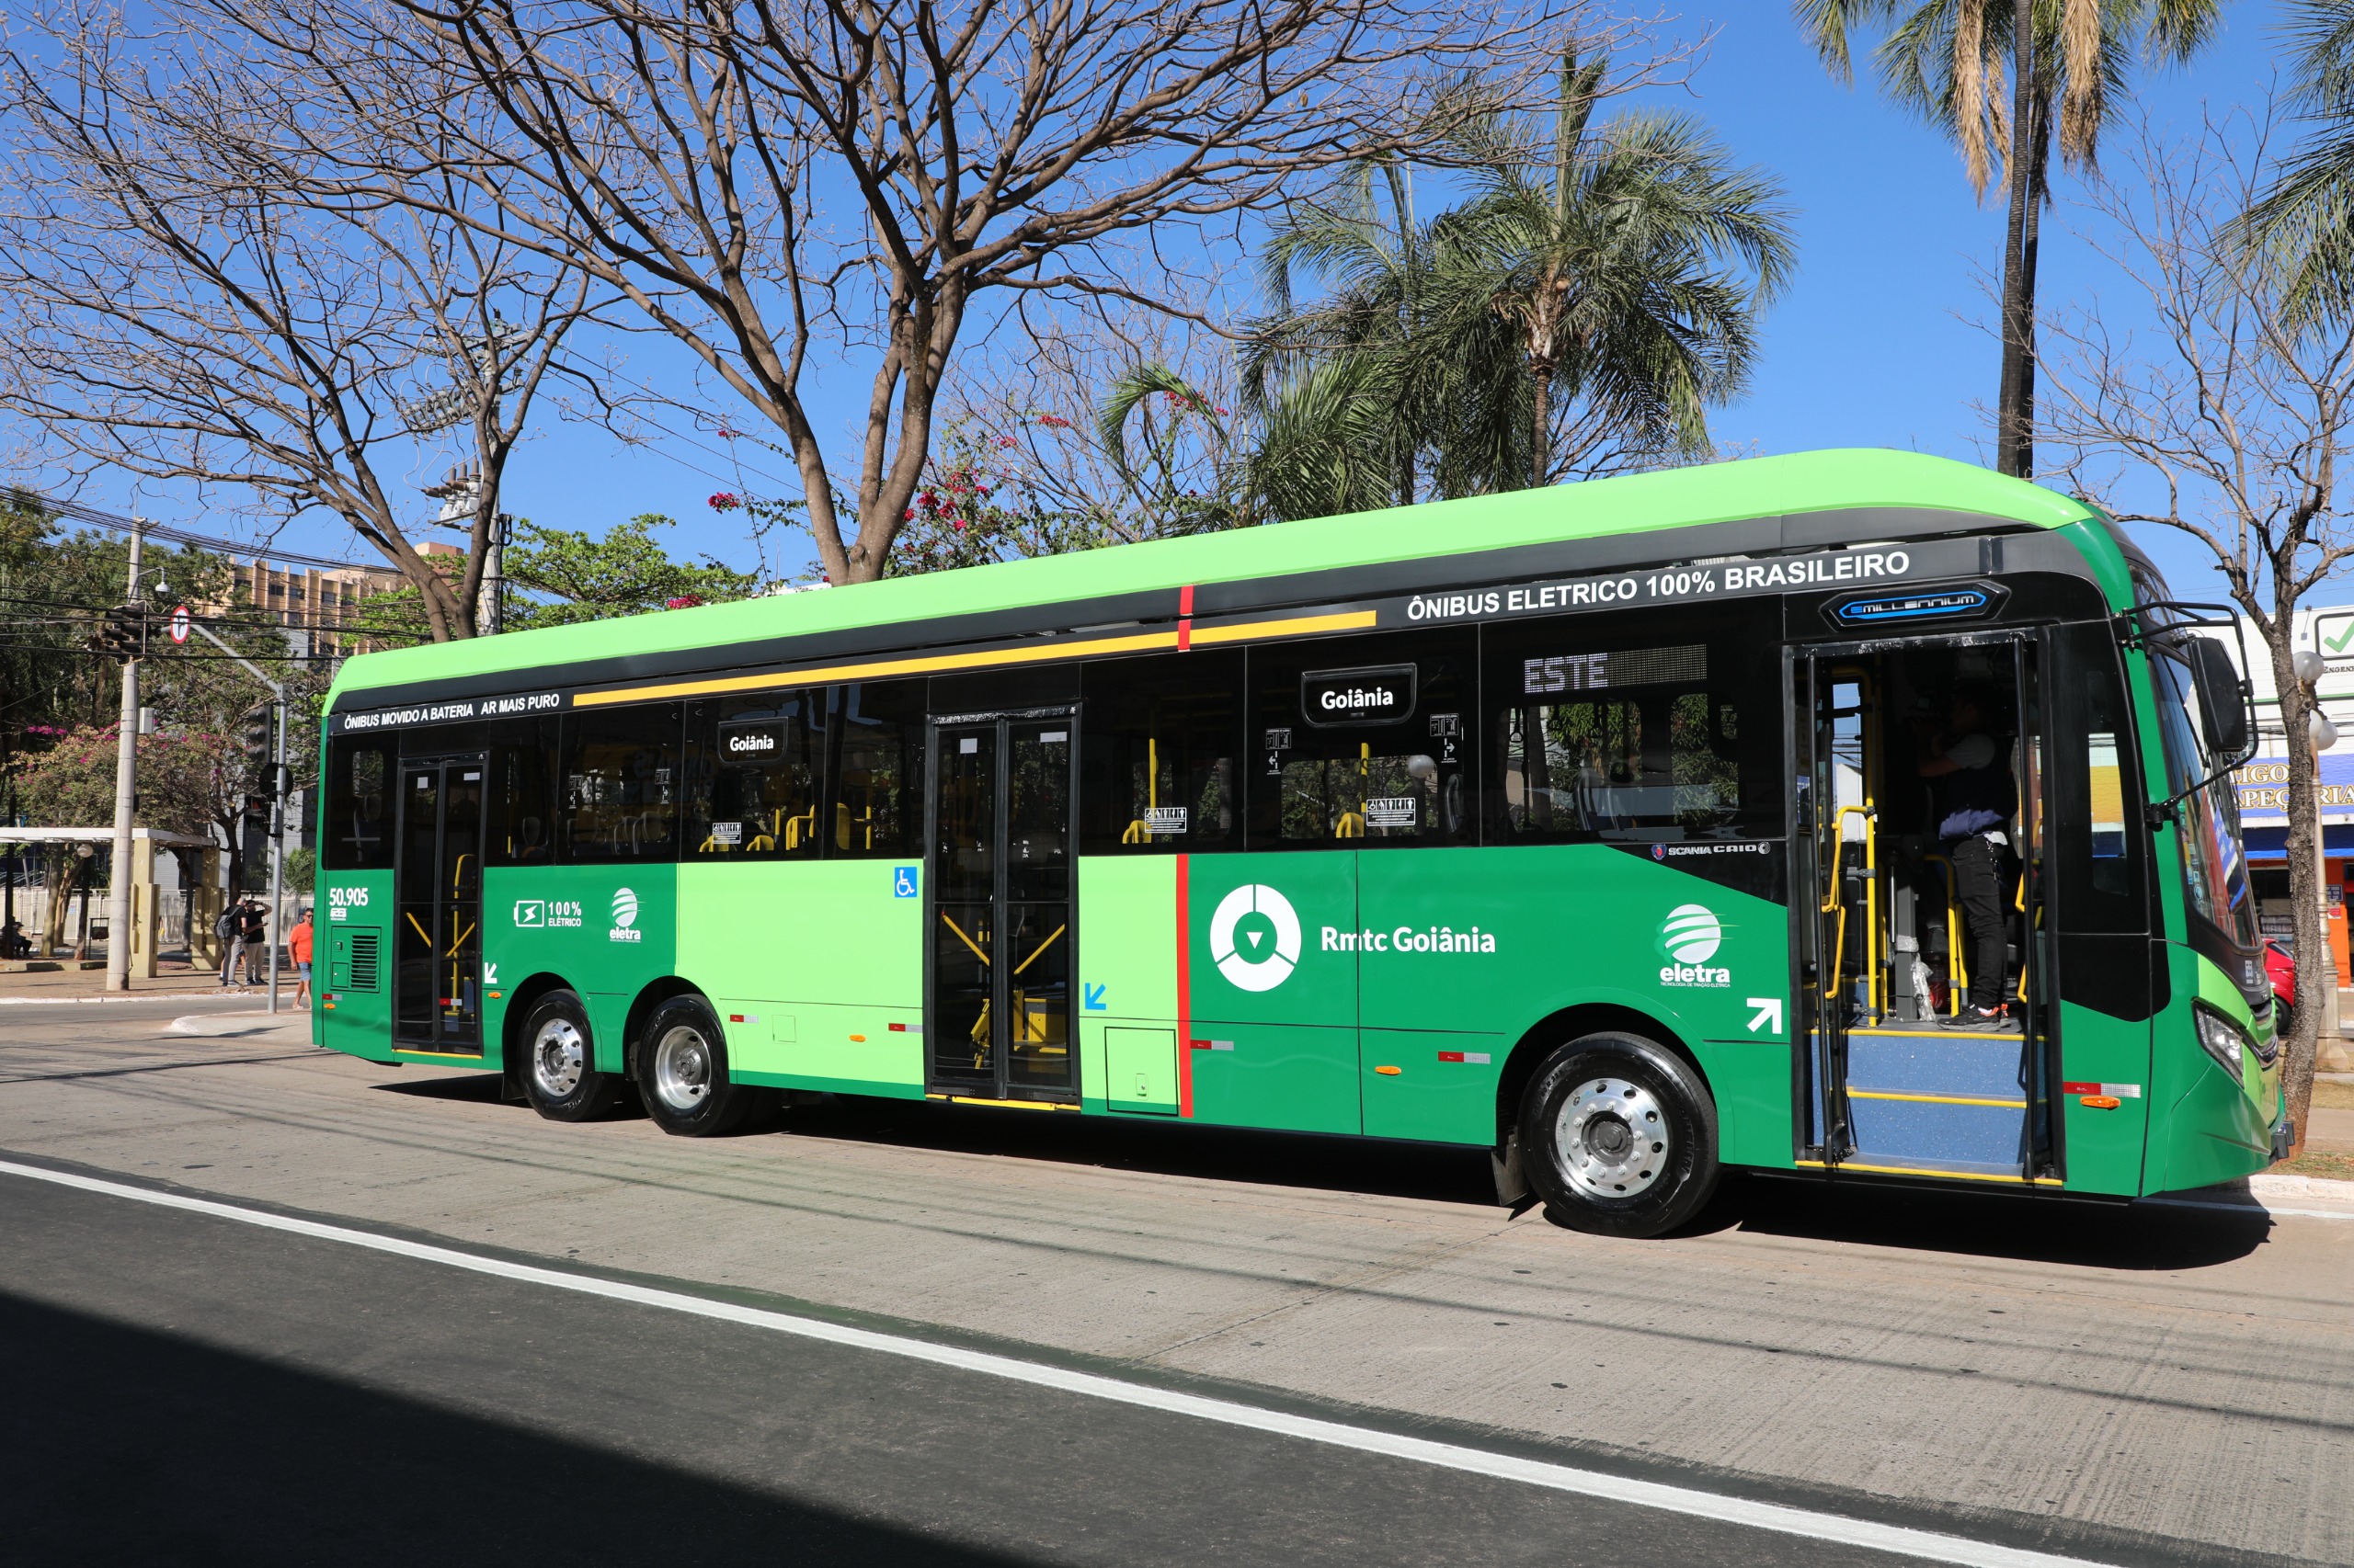
<path id="1" fill-rule="evenodd" d="M 1775 638 L 1756 605 L 1490 626 L 1488 843 L 1777 838 Z"/>

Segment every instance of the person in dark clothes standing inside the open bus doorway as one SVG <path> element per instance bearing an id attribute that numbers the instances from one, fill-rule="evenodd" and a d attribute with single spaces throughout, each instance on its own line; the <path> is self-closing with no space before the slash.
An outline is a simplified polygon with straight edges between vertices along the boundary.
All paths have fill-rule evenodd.
<path id="1" fill-rule="evenodd" d="M 1984 687 L 1956 687 L 1944 732 L 1923 735 L 1919 760 L 1921 777 L 1935 779 L 1937 838 L 1954 862 L 1954 897 L 1970 944 L 1970 1001 L 1944 1019 L 1947 1029 L 2013 1026 L 2003 1008 L 2003 881 L 2020 789 L 1991 713 Z"/>

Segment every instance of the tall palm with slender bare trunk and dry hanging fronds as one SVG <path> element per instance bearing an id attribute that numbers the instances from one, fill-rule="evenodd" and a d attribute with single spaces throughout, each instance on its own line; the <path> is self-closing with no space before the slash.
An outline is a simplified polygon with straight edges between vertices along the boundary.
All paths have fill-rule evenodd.
<path id="1" fill-rule="evenodd" d="M 1954 137 L 1980 200 L 2001 160 L 2008 224 L 1994 466 L 2032 478 L 2036 252 L 2050 202 L 2053 125 L 2060 158 L 2090 170 L 2100 132 L 2128 94 L 2135 45 L 2154 64 L 2189 61 L 2215 35 L 2222 0 L 1791 0 L 1791 12 L 1841 82 L 1855 78 L 1850 35 L 1886 24 L 1888 35 L 1874 49 L 1881 87 Z M 2020 125 L 2027 132 L 2015 141 Z"/>

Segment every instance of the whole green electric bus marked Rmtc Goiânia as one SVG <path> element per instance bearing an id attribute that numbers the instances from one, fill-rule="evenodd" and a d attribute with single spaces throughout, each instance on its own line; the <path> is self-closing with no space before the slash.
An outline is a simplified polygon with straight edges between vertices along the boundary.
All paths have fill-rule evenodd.
<path id="1" fill-rule="evenodd" d="M 2093 506 L 1815 452 L 351 659 L 315 1029 L 541 1116 L 883 1095 L 2128 1198 L 2286 1147 L 2225 647 Z M 2008 1017 L 1919 735 L 1989 709 Z"/>

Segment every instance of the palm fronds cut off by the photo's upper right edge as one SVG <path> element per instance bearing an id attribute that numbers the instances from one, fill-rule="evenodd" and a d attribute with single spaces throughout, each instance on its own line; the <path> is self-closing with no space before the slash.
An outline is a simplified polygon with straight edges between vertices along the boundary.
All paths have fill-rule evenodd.
<path id="1" fill-rule="evenodd" d="M 2354 0 L 2298 0 L 2283 28 L 2295 59 L 2290 99 L 2312 125 L 2246 233 L 2281 268 L 2281 299 L 2300 325 L 2354 315 Z"/>

